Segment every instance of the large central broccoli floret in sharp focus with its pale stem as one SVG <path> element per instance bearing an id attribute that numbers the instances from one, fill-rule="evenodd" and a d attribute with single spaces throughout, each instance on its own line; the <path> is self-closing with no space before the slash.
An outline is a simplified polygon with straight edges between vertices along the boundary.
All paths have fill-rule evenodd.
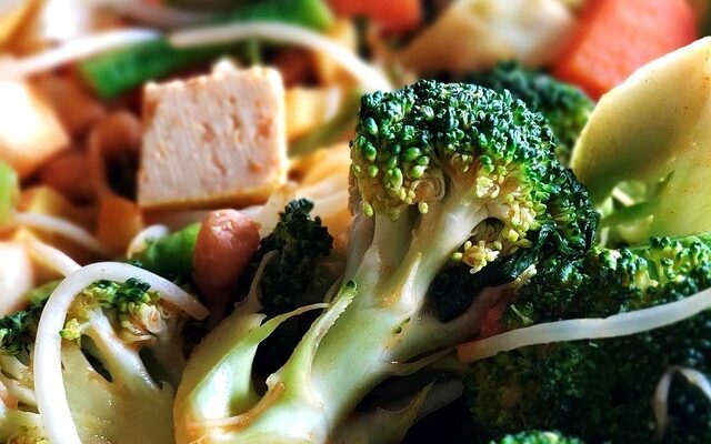
<path id="1" fill-rule="evenodd" d="M 540 114 L 505 91 L 420 81 L 364 95 L 340 289 L 320 299 L 329 307 L 262 394 L 252 357 L 273 323 L 260 326 L 238 310 L 230 329 L 208 335 L 200 352 L 217 366 L 190 360 L 177 398 L 178 443 L 327 442 L 378 384 L 473 333 L 481 304 L 452 322 L 432 313 L 428 293 L 440 272 L 465 264 L 475 279 L 530 249 L 535 260 L 584 253 L 597 214 L 553 144 Z M 227 354 L 217 360 L 217 350 Z M 226 372 L 233 389 L 207 405 L 202 396 Z"/>

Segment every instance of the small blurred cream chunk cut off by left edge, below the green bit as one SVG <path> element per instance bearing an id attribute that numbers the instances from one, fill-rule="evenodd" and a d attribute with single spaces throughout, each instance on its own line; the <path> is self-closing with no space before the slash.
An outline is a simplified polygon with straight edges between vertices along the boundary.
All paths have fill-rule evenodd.
<path id="1" fill-rule="evenodd" d="M 24 242 L 0 242 L 0 316 L 27 305 L 24 294 L 34 286 L 32 263 Z"/>

